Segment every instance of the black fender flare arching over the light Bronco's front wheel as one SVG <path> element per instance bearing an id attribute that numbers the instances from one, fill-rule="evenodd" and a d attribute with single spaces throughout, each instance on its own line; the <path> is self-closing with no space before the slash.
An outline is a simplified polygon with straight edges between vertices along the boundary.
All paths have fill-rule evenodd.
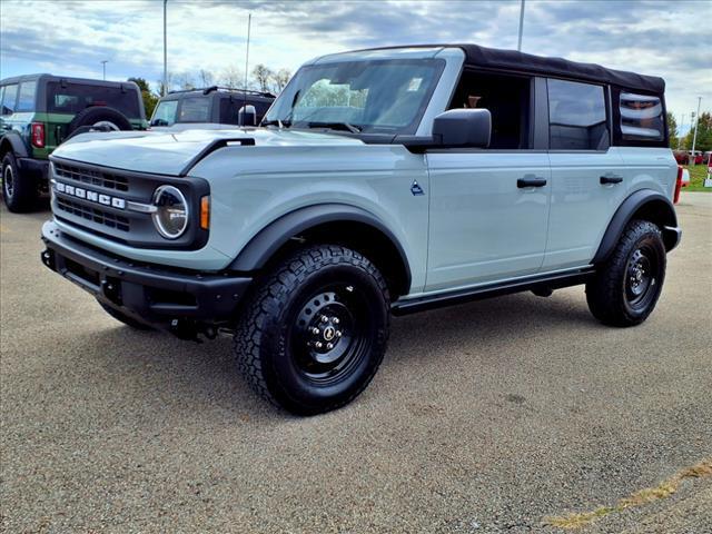
<path id="1" fill-rule="evenodd" d="M 411 287 L 411 268 L 405 249 L 398 239 L 375 215 L 345 204 L 309 206 L 281 216 L 249 240 L 230 264 L 229 269 L 244 273 L 261 269 L 269 258 L 294 236 L 325 222 L 344 221 L 368 225 L 386 236 L 400 256 L 407 277 L 406 287 Z"/>

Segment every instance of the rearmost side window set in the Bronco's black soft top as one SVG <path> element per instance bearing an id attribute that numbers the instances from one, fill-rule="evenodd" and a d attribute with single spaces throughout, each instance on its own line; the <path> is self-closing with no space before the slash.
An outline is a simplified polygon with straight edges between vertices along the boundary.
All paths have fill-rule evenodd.
<path id="1" fill-rule="evenodd" d="M 623 139 L 662 141 L 665 138 L 665 120 L 660 98 L 621 92 L 620 102 Z"/>

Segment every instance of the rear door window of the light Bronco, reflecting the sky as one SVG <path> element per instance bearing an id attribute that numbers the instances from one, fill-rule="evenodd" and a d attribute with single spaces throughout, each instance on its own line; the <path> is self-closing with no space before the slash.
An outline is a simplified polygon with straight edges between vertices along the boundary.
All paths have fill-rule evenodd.
<path id="1" fill-rule="evenodd" d="M 605 150 L 610 146 L 602 86 L 547 80 L 552 150 Z"/>

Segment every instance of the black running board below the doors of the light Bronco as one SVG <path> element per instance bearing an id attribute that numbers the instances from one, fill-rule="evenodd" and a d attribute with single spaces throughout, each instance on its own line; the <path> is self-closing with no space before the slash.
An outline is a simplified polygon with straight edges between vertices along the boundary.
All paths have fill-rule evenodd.
<path id="1" fill-rule="evenodd" d="M 416 312 L 452 306 L 454 304 L 468 303 L 471 300 L 500 297 L 512 293 L 531 291 L 536 289 L 560 289 L 562 287 L 585 284 L 594 274 L 595 269 L 591 267 L 587 269 L 577 269 L 575 271 L 534 276 L 513 281 L 479 286 L 471 289 L 438 293 L 437 295 L 428 295 L 407 300 L 399 299 L 393 303 L 390 312 L 393 315 L 408 315 L 415 314 Z"/>

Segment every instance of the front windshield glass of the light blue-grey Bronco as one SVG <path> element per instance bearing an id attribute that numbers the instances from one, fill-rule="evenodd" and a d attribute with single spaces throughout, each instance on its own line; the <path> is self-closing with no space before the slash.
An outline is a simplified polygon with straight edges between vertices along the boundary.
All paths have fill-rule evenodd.
<path id="1" fill-rule="evenodd" d="M 397 59 L 303 67 L 263 123 L 414 134 L 444 65 L 438 59 Z"/>

